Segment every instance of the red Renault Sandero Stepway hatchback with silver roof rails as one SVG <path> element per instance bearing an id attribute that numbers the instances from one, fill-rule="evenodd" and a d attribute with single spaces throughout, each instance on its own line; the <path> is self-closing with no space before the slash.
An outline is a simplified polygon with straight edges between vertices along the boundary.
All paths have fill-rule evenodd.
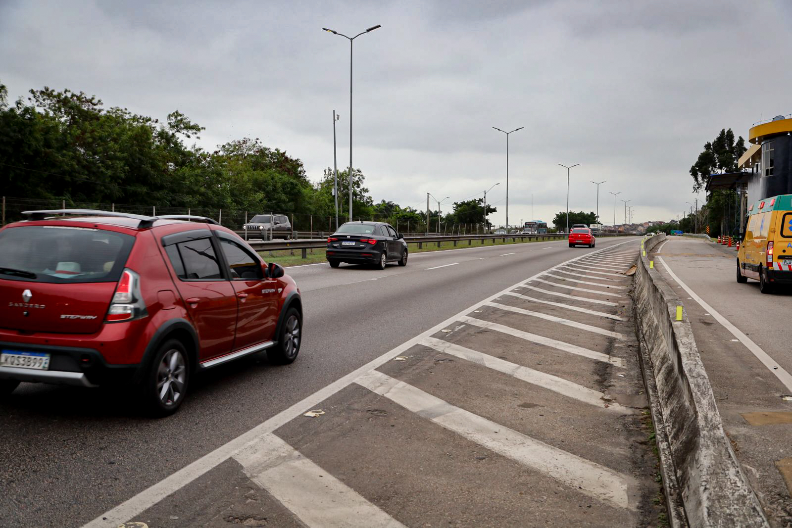
<path id="1" fill-rule="evenodd" d="M 296 359 L 295 281 L 211 218 L 25 215 L 0 229 L 0 394 L 131 382 L 166 415 L 198 370 L 259 352 Z"/>

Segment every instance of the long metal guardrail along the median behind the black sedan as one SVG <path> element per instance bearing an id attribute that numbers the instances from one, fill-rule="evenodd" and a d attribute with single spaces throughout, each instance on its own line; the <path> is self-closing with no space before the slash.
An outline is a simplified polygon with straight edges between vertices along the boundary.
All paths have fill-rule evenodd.
<path id="1" fill-rule="evenodd" d="M 597 237 L 624 237 L 630 236 L 621 233 L 600 233 Z M 423 237 L 405 237 L 404 241 L 407 245 L 417 244 L 418 249 L 423 249 L 424 245 L 436 244 L 441 247 L 443 242 L 454 242 L 454 247 L 457 247 L 460 242 L 467 242 L 467 245 L 472 246 L 474 241 L 480 241 L 484 245 L 485 241 L 558 241 L 566 240 L 568 234 L 480 234 L 480 235 L 457 235 L 457 236 L 423 236 Z M 308 249 L 326 249 L 327 241 L 325 238 L 308 238 L 298 240 L 273 240 L 273 241 L 248 241 L 248 244 L 256 251 L 281 251 L 284 249 L 300 249 L 303 253 L 303 258 L 307 258 Z"/>

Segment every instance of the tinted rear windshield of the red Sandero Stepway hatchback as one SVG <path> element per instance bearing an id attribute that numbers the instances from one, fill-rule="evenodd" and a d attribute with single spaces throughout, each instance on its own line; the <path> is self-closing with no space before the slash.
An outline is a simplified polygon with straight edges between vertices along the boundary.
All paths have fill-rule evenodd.
<path id="1" fill-rule="evenodd" d="M 116 282 L 135 237 L 87 227 L 21 226 L 0 231 L 0 279 Z"/>

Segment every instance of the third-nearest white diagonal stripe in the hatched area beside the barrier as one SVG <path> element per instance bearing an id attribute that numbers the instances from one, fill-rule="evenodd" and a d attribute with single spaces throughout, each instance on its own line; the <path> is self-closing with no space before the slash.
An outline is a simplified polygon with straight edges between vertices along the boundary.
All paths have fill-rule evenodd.
<path id="1" fill-rule="evenodd" d="M 531 385 L 563 394 L 566 397 L 573 398 L 573 400 L 582 401 L 588 405 L 595 405 L 604 411 L 616 412 L 618 414 L 633 414 L 635 412 L 634 409 L 625 407 L 616 402 L 608 401 L 608 406 L 605 407 L 606 396 L 604 393 L 600 393 L 594 389 L 588 389 L 588 387 L 578 385 L 564 378 L 558 378 L 558 376 L 552 374 L 546 374 L 539 370 L 505 361 L 494 355 L 484 354 L 476 350 L 471 350 L 470 348 L 461 347 L 458 344 L 435 339 L 434 337 L 427 337 L 425 340 L 421 341 L 421 344 L 433 348 L 436 351 L 465 359 L 466 361 L 470 361 L 470 363 L 475 363 L 482 367 L 508 374 L 524 382 L 531 383 Z"/>

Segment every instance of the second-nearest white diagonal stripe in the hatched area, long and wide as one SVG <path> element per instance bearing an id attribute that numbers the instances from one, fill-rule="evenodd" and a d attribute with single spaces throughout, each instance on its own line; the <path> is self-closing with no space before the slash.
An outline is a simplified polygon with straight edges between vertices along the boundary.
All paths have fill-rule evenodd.
<path id="1" fill-rule="evenodd" d="M 358 378 L 356 383 L 570 488 L 618 507 L 634 509 L 628 494 L 632 480 L 626 475 L 455 407 L 376 370 Z"/>

